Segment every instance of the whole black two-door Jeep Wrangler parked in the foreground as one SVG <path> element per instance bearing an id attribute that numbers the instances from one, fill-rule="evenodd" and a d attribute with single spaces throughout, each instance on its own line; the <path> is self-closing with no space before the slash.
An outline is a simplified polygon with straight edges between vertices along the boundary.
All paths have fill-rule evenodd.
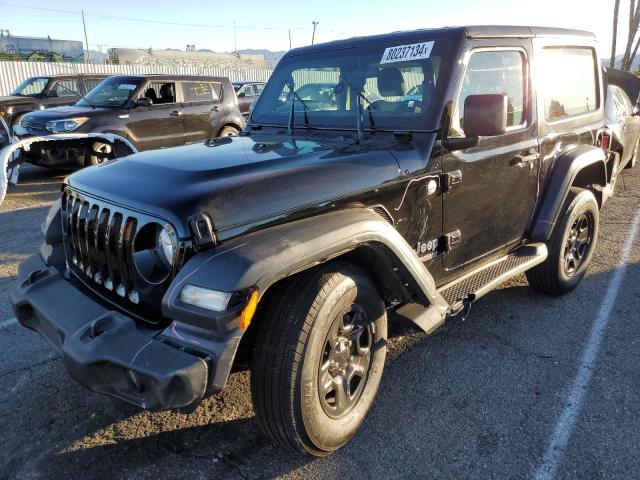
<path id="1" fill-rule="evenodd" d="M 586 32 L 292 50 L 239 137 L 70 176 L 16 316 L 78 382 L 147 409 L 220 391 L 248 352 L 264 431 L 327 455 L 373 403 L 389 319 L 433 332 L 522 272 L 577 286 L 611 192 L 602 99 Z"/>

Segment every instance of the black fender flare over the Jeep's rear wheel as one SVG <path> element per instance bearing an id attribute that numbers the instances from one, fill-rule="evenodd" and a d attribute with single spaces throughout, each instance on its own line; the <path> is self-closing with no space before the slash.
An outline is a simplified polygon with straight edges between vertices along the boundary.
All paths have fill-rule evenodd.
<path id="1" fill-rule="evenodd" d="M 530 240 L 546 241 L 551 237 L 562 206 L 574 185 L 588 187 L 607 186 L 606 153 L 592 145 L 580 145 L 560 155 L 547 173 L 549 182 L 537 208 L 531 228 Z M 581 175 L 581 173 L 588 175 Z M 584 178 L 583 178 L 584 177 Z M 606 192 L 602 192 L 602 204 Z"/>

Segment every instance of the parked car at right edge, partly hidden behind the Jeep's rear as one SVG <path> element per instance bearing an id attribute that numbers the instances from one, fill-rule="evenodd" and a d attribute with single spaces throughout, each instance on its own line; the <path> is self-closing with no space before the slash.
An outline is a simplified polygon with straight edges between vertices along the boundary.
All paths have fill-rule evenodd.
<path id="1" fill-rule="evenodd" d="M 611 151 L 617 155 L 612 175 L 623 168 L 631 168 L 637 162 L 640 143 L 640 116 L 637 106 L 629 100 L 622 88 L 607 87 L 604 109 L 605 125 L 611 129 Z"/>

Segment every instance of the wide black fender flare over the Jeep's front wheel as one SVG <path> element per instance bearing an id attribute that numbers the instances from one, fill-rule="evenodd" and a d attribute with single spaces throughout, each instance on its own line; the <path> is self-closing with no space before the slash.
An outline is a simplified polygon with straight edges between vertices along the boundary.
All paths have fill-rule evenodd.
<path id="1" fill-rule="evenodd" d="M 443 317 L 448 312 L 448 303 L 413 249 L 392 225 L 366 208 L 338 210 L 264 228 L 197 253 L 169 286 L 162 312 L 184 323 L 192 323 L 195 315 L 196 323 L 206 324 L 206 313 L 198 314 L 201 309 L 185 309 L 180 303 L 185 284 L 223 292 L 257 287 L 262 297 L 277 281 L 354 251 L 373 255 L 374 266 L 377 262 L 381 268 L 374 272 L 378 283 L 382 272 L 396 277 L 384 279 L 405 289 L 402 301 L 436 307 Z"/>

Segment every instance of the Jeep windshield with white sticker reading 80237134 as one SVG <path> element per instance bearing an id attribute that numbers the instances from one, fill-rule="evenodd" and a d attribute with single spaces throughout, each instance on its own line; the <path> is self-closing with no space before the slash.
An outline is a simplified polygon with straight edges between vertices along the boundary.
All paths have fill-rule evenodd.
<path id="1" fill-rule="evenodd" d="M 355 129 L 360 103 L 365 128 L 419 128 L 443 82 L 450 44 L 397 43 L 286 57 L 256 103 L 252 122 L 287 125 L 293 103 L 296 127 Z"/>

